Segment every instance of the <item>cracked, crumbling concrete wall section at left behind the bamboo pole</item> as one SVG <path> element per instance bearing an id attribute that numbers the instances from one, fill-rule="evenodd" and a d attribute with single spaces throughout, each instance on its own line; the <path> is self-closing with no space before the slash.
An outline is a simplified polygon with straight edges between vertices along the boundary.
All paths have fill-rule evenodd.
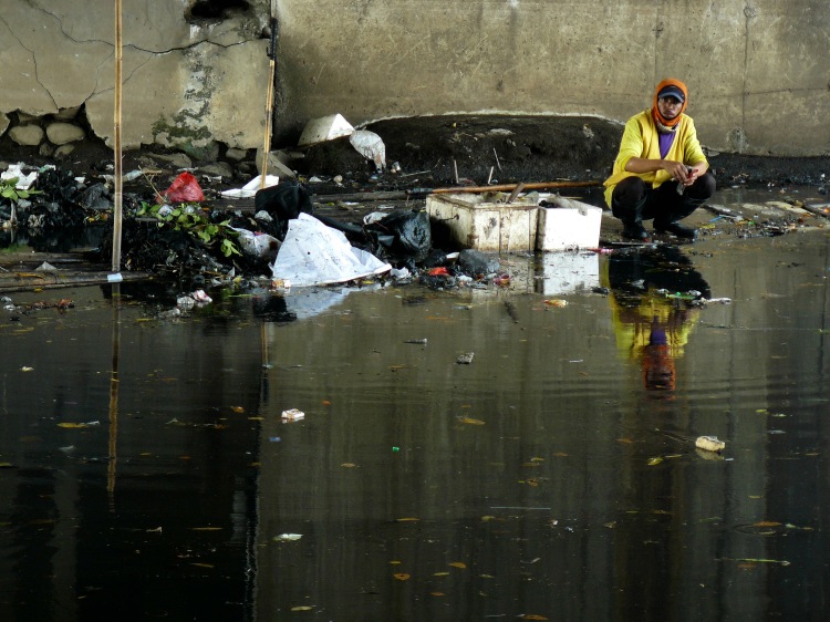
<path id="1" fill-rule="evenodd" d="M 250 0 L 226 19 L 188 20 L 194 1 L 123 2 L 125 147 L 262 143 L 269 1 Z M 85 106 L 92 131 L 112 142 L 114 4 L 3 1 L 0 128 L 14 113 L 40 117 Z"/>

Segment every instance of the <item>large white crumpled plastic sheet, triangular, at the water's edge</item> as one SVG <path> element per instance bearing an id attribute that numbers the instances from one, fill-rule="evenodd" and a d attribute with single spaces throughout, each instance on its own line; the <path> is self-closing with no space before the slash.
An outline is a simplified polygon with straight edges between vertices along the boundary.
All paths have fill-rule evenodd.
<path id="1" fill-rule="evenodd" d="M 290 281 L 291 287 L 343 283 L 391 269 L 371 252 L 350 245 L 342 231 L 308 214 L 289 221 L 286 239 L 271 266 L 273 279 Z"/>

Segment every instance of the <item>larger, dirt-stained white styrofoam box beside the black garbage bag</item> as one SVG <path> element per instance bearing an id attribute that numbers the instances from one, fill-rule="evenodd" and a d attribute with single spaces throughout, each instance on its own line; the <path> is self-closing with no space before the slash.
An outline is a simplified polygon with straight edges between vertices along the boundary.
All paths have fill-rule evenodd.
<path id="1" fill-rule="evenodd" d="M 434 194 L 426 199 L 429 218 L 446 224 L 453 240 L 465 248 L 518 252 L 533 250 L 539 224 L 536 200 L 488 203 L 480 194 Z"/>

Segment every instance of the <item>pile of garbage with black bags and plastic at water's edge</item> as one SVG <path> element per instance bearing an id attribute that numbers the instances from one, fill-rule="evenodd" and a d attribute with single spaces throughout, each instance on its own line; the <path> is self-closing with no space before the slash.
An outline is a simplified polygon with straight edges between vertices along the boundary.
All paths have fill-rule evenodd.
<path id="1" fill-rule="evenodd" d="M 0 199 L 0 218 L 9 228 L 32 236 L 95 225 L 101 243 L 86 257 L 110 261 L 111 176 L 87 182 L 54 166 L 15 165 L 3 178 L 10 191 Z M 465 251 L 459 260 L 434 249 L 423 209 L 378 211 L 345 222 L 314 214 L 303 184 L 276 177 L 267 183 L 272 185 L 261 188 L 256 178 L 242 189 L 253 195 L 252 211 L 211 205 L 189 172 L 164 191 L 125 194 L 122 269 L 175 279 L 181 287 L 266 279 L 282 288 L 395 279 L 444 289 L 498 272 L 498 260 L 483 253 Z M 477 260 L 470 262 L 471 257 Z"/>

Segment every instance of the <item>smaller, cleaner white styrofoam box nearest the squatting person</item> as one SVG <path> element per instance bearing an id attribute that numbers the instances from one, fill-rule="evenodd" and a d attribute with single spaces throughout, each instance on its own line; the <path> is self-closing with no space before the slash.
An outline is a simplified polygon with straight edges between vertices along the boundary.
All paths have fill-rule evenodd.
<path id="1" fill-rule="evenodd" d="M 573 199 L 552 197 L 557 207 L 539 208 L 537 250 L 596 248 L 600 245 L 602 208 Z"/>

